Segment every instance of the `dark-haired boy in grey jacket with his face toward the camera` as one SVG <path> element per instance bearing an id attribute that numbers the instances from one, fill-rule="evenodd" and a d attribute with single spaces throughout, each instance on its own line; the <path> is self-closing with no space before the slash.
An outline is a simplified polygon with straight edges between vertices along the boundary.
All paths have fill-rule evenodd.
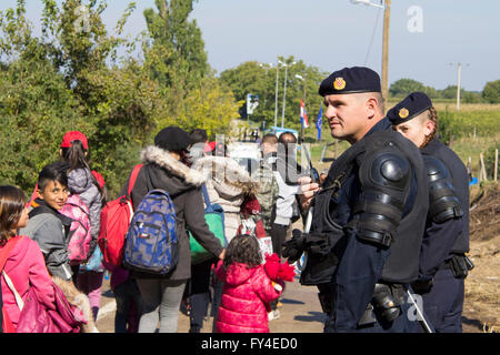
<path id="1" fill-rule="evenodd" d="M 28 225 L 20 230 L 38 243 L 52 276 L 72 280 L 68 257 L 68 234 L 72 220 L 60 211 L 68 201 L 68 164 L 57 162 L 42 169 L 38 176 L 38 197 L 29 207 Z"/>

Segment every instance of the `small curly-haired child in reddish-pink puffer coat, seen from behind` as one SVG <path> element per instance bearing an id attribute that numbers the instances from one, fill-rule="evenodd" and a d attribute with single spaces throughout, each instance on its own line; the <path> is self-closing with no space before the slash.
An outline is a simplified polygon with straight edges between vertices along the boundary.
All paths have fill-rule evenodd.
<path id="1" fill-rule="evenodd" d="M 266 304 L 278 298 L 283 288 L 267 275 L 257 239 L 232 239 L 216 275 L 224 282 L 217 333 L 269 333 Z"/>

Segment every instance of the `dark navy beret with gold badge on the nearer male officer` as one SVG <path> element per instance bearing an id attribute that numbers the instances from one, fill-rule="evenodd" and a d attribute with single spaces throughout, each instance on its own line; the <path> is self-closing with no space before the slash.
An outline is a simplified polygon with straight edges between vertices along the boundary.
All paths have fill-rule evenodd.
<path id="1" fill-rule="evenodd" d="M 323 80 L 319 94 L 327 97 L 331 94 L 381 92 L 380 77 L 370 68 L 353 67 L 344 68 L 333 72 Z"/>

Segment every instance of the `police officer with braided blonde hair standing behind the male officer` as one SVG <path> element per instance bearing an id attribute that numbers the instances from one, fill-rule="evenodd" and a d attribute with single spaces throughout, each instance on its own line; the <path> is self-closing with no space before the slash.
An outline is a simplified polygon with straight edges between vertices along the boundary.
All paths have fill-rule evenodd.
<path id="1" fill-rule="evenodd" d="M 394 130 L 420 148 L 429 179 L 429 213 L 413 290 L 439 333 L 461 333 L 469 252 L 469 180 L 466 165 L 436 136 L 438 114 L 423 92 L 388 112 Z"/>

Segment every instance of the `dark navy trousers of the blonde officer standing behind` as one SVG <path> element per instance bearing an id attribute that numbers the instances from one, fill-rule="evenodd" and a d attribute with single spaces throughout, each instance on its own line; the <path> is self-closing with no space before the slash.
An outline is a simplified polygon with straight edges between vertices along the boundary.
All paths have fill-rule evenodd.
<path id="1" fill-rule="evenodd" d="M 422 295 L 423 310 L 437 333 L 462 333 L 463 300 L 463 280 L 456 278 L 451 270 L 438 271 L 431 291 Z"/>

